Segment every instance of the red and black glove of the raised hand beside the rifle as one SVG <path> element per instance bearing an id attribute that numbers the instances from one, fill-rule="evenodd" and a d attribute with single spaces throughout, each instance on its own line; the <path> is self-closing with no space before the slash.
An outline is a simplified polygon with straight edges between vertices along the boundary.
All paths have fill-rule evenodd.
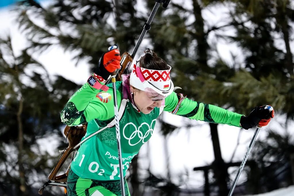
<path id="1" fill-rule="evenodd" d="M 120 61 L 121 56 L 119 55 L 117 46 L 111 46 L 108 48 L 108 51 L 102 55 L 99 60 L 99 66 L 93 71 L 104 80 L 107 80 L 113 71 L 121 68 Z"/>

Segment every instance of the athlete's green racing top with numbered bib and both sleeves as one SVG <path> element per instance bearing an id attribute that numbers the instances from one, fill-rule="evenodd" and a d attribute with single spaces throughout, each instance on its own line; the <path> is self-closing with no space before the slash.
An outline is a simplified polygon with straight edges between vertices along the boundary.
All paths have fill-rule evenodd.
<path id="1" fill-rule="evenodd" d="M 114 118 L 113 88 L 111 85 L 107 92 L 92 88 L 88 83 L 84 84 L 69 99 L 61 112 L 61 120 L 69 126 L 88 123 L 86 138 L 88 135 L 105 127 Z M 123 99 L 123 84 L 116 82 L 117 104 L 121 105 Z M 190 100 L 173 92 L 165 99 L 161 107 L 164 111 L 173 112 L 176 115 L 190 119 L 202 120 L 210 123 L 221 123 L 240 127 L 241 114 L 228 111 L 215 105 L 205 104 Z M 161 108 L 154 108 L 150 114 L 138 112 L 128 101 L 124 113 L 119 121 L 121 138 L 121 159 L 123 164 L 123 176 L 129 168 L 132 158 L 138 154 L 141 146 L 152 136 L 156 118 L 161 113 Z M 175 112 L 176 108 L 176 112 Z M 82 140 L 83 140 L 82 139 Z M 89 138 L 78 149 L 72 163 L 71 170 L 78 176 L 74 182 L 84 182 L 91 179 L 86 188 L 90 189 L 93 182 L 119 182 L 118 151 L 116 143 L 116 128 L 106 128 L 97 135 Z M 69 182 L 68 182 L 69 183 Z M 71 183 L 73 184 L 73 183 Z M 78 183 L 76 183 L 78 184 Z M 69 187 L 69 184 L 68 184 Z M 97 186 L 105 188 L 106 186 Z M 127 186 L 126 186 L 127 187 Z M 70 187 L 71 189 L 73 187 Z M 74 187 L 78 189 L 78 187 Z M 85 188 L 85 189 L 86 189 Z M 107 189 L 107 188 L 106 188 Z M 108 189 L 109 190 L 109 189 Z M 126 188 L 128 191 L 128 188 Z M 93 191 L 92 191 L 93 192 Z M 111 192 L 111 191 L 109 191 Z M 110 194 L 119 195 L 112 191 Z M 85 195 L 85 192 L 73 195 Z M 128 195 L 129 193 L 127 193 Z M 87 195 L 87 194 L 86 194 Z M 91 195 L 89 193 L 89 195 Z M 71 196 L 71 195 L 70 195 Z"/>

